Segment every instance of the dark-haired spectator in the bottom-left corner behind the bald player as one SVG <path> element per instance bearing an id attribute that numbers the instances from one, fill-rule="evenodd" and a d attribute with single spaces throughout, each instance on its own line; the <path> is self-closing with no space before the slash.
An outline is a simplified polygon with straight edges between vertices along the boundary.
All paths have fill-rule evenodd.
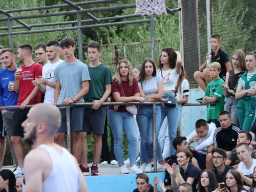
<path id="1" fill-rule="evenodd" d="M 9 169 L 3 169 L 0 172 L 0 185 L 2 192 L 15 192 L 15 175 Z"/>

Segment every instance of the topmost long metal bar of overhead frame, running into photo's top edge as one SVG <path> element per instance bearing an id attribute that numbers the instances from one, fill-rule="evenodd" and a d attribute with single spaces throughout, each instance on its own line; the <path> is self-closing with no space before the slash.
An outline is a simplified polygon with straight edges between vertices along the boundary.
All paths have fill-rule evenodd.
<path id="1" fill-rule="evenodd" d="M 98 0 L 98 1 L 90 1 L 90 2 L 79 2 L 74 4 L 79 6 L 79 5 L 91 5 L 91 4 L 110 3 L 110 2 L 119 2 L 119 1 L 123 1 L 123 0 Z M 63 7 L 69 7 L 69 5 L 61 4 L 61 5 L 50 5 L 50 6 L 43 6 L 43 7 L 31 7 L 31 8 L 24 8 L 24 9 L 11 9 L 11 10 L 6 10 L 6 12 L 15 13 L 15 12 L 55 9 L 55 8 L 63 8 Z"/>

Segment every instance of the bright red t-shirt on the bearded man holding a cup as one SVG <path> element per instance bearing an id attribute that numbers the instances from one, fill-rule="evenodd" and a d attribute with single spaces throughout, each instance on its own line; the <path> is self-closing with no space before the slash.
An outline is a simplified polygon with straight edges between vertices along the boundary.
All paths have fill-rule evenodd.
<path id="1" fill-rule="evenodd" d="M 32 66 L 30 67 L 22 67 L 22 77 L 18 78 L 19 81 L 19 95 L 18 95 L 18 102 L 17 105 L 21 105 L 25 99 L 31 94 L 35 86 L 33 86 L 33 83 L 31 81 L 35 80 L 36 78 L 39 78 L 39 76 L 42 76 L 42 66 L 34 62 Z M 29 101 L 28 104 L 37 104 L 41 102 L 41 95 L 42 92 L 38 92 L 38 94 Z"/>

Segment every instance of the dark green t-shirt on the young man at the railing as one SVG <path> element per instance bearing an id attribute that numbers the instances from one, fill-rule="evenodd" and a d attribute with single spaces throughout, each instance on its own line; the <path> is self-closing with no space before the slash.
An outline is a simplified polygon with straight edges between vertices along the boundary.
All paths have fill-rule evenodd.
<path id="1" fill-rule="evenodd" d="M 97 67 L 90 67 L 90 64 L 87 65 L 88 71 L 91 77 L 91 81 L 89 83 L 89 92 L 84 96 L 84 102 L 92 102 L 94 100 L 99 100 L 104 95 L 106 87 L 105 85 L 108 83 L 112 83 L 112 75 L 110 68 L 104 66 L 102 63 Z M 106 99 L 104 102 L 108 101 Z M 91 108 L 91 106 L 86 106 Z"/>

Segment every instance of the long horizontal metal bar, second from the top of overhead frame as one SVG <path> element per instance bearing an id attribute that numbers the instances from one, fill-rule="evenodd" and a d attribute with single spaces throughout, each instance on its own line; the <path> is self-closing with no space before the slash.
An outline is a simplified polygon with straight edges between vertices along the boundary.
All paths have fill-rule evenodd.
<path id="1" fill-rule="evenodd" d="M 0 18 L 0 22 L 3 22 L 4 20 L 8 20 L 8 19 L 15 20 L 15 19 L 28 19 L 28 18 L 39 18 L 39 17 L 59 16 L 59 15 L 72 15 L 72 14 L 76 14 L 77 12 L 79 12 L 79 13 L 88 13 L 88 12 L 98 12 L 98 11 L 112 11 L 112 10 L 129 9 L 129 8 L 135 8 L 135 7 L 136 7 L 136 4 L 131 4 L 131 5 L 100 7 L 100 8 L 83 9 L 83 10 L 42 13 L 42 14 L 35 14 L 35 15 L 3 17 L 3 18 Z"/>

